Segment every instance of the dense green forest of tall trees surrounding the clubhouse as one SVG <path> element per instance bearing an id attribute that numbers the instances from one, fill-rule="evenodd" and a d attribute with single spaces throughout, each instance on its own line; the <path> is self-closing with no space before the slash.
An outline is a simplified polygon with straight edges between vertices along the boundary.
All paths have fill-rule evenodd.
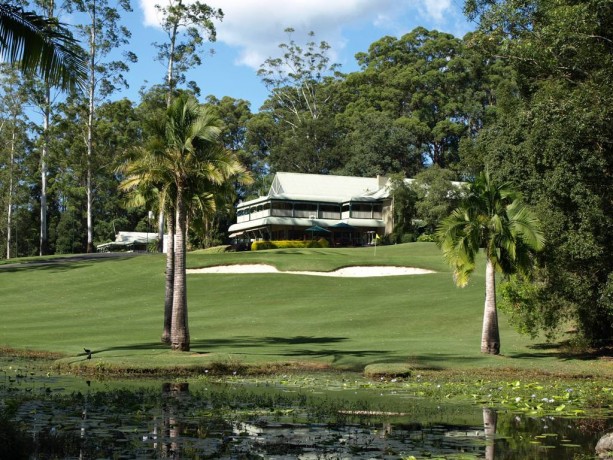
<path id="1" fill-rule="evenodd" d="M 90 3 L 72 4 L 86 12 Z M 32 2 L 32 9 L 59 14 L 45 5 Z M 106 81 L 96 97 L 73 91 L 61 101 L 41 96 L 41 82 L 24 84 L 3 71 L 2 257 L 83 252 L 92 232 L 95 245 L 119 230 L 152 228 L 155 200 L 128 207 L 117 166 L 150 135 L 147 120 L 170 99 L 198 96 L 198 82 L 184 72 L 200 64 L 199 46 L 214 41 L 213 21 L 223 13 L 194 5 L 177 0 L 160 10 L 168 42 L 155 46 L 170 73 L 138 101 L 109 99 L 126 71 L 111 62 L 96 64 Z M 121 6 L 117 20 L 130 8 Z M 359 70 L 349 74 L 315 33 L 302 44 L 287 29 L 279 55 L 262 63 L 270 96 L 257 112 L 230 97 L 203 104 L 222 121 L 225 147 L 254 182 L 235 184 L 225 204 L 192 216 L 188 246 L 223 242 L 232 205 L 265 193 L 276 171 L 416 178 L 410 188 L 395 182 L 392 240 L 408 241 L 431 233 L 454 207 L 454 181 L 487 167 L 522 192 L 548 241 L 536 272 L 504 285 L 503 308 L 524 332 L 570 328 L 585 344 L 610 342 L 613 2 L 467 0 L 465 10 L 477 24 L 465 37 L 422 27 L 382 37 L 356 55 Z M 174 35 L 173 24 L 186 18 L 188 35 Z M 128 35 L 112 44 L 116 51 L 128 49 Z M 28 99 L 48 117 L 27 111 Z"/>

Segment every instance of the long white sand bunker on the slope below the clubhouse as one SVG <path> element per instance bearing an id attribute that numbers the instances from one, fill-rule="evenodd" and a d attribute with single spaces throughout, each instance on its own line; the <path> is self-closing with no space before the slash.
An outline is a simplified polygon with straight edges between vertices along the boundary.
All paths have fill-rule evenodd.
<path id="1" fill-rule="evenodd" d="M 435 273 L 432 270 L 412 267 L 390 267 L 390 266 L 356 266 L 343 267 L 332 272 L 282 272 L 277 270 L 272 265 L 253 264 L 253 265 L 218 265 L 215 267 L 195 268 L 187 270 L 188 274 L 195 273 L 285 273 L 289 275 L 311 275 L 311 276 L 341 276 L 347 278 L 370 278 L 373 276 L 403 276 L 403 275 L 426 275 Z"/>

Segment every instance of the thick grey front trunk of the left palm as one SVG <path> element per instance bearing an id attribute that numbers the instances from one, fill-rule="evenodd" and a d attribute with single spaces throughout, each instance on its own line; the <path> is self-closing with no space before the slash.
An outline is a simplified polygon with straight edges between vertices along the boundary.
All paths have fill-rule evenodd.
<path id="1" fill-rule="evenodd" d="M 187 286 L 185 276 L 185 204 L 183 188 L 177 186 L 177 214 L 175 243 L 175 278 L 172 296 L 171 348 L 189 351 L 189 327 L 187 324 Z"/>

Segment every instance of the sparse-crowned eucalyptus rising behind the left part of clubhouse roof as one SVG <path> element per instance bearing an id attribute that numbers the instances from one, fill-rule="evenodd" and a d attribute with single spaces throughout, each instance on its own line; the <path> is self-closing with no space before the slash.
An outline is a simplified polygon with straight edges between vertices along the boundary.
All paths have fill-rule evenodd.
<path id="1" fill-rule="evenodd" d="M 327 42 L 315 42 L 314 32 L 305 45 L 293 39 L 294 29 L 285 32 L 289 42 L 279 45 L 281 55 L 266 59 L 258 71 L 270 91 L 259 118 L 272 127 L 261 135 L 267 137 L 273 169 L 328 173 L 339 164 L 331 104 L 334 83 L 341 78 L 339 64 L 331 62 Z"/>

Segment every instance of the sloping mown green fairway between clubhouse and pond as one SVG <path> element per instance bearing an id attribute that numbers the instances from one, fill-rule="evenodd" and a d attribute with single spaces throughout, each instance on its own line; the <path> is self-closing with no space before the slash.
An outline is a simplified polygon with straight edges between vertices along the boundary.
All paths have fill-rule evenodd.
<path id="1" fill-rule="evenodd" d="M 356 249 L 194 253 L 189 267 L 268 263 L 280 270 L 351 265 L 428 268 L 430 275 L 334 278 L 293 274 L 188 275 L 192 350 L 159 343 L 164 256 L 142 255 L 0 268 L 0 345 L 65 354 L 65 364 L 208 366 L 299 362 L 362 371 L 520 368 L 612 372 L 611 362 L 562 359 L 500 318 L 503 356 L 479 352 L 480 266 L 467 288 L 453 284 L 433 244 Z M 87 361 L 83 348 L 94 350 Z"/>

